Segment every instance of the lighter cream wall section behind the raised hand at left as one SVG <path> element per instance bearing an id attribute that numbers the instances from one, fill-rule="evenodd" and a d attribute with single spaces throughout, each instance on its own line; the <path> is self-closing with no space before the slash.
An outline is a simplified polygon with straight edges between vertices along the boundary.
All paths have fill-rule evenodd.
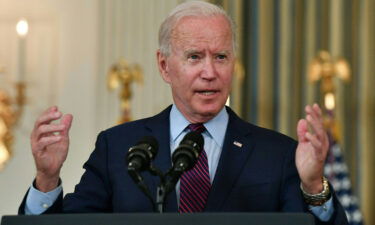
<path id="1" fill-rule="evenodd" d="M 94 111 L 97 63 L 98 5 L 92 0 L 3 0 L 0 2 L 2 40 L 6 49 L 4 76 L 17 73 L 17 37 L 14 25 L 19 17 L 29 20 L 27 37 L 27 105 L 15 129 L 14 157 L 0 172 L 0 214 L 15 214 L 19 202 L 33 180 L 35 170 L 29 148 L 29 133 L 35 118 L 48 106 L 59 105 L 73 113 L 71 151 L 62 177 L 67 190 L 82 173 L 82 162 L 92 149 L 95 138 L 90 113 Z M 4 35 L 2 35 L 4 37 Z M 11 56 L 11 57 L 9 57 Z M 9 83 L 7 89 L 11 89 Z"/>

